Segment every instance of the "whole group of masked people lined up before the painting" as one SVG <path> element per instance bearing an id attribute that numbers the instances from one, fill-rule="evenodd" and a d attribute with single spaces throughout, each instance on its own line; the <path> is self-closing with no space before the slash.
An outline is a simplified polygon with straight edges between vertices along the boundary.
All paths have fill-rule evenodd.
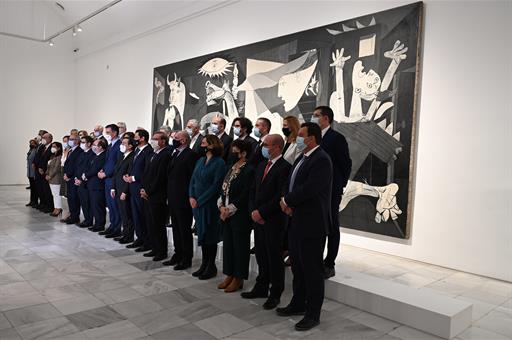
<path id="1" fill-rule="evenodd" d="M 62 143 L 41 130 L 27 155 L 27 205 L 59 216 L 65 195 L 69 215 L 61 222 L 165 260 L 174 270 L 192 266 L 195 233 L 202 260 L 192 275 L 200 280 L 217 275 L 222 241 L 225 278 L 218 288 L 226 293 L 248 279 L 254 232 L 258 276 L 242 298 L 266 298 L 263 308 L 276 308 L 288 254 L 293 297 L 276 311 L 304 315 L 295 328 L 308 330 L 320 320 L 324 279 L 335 274 L 338 207 L 351 169 L 347 142 L 332 122 L 333 111 L 320 106 L 310 122 L 285 117 L 282 134 L 271 134 L 266 118 L 253 126 L 239 117 L 231 137 L 220 114 L 203 133 L 194 119 L 183 131 L 163 126 L 151 137 L 142 128 L 127 132 L 122 122 L 91 133 L 71 130 Z M 169 259 L 167 227 L 174 248 Z"/>

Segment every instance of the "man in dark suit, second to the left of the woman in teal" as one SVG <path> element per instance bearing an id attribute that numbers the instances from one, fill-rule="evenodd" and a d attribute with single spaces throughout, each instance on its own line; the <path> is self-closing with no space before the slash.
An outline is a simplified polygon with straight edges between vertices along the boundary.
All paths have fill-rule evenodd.
<path id="1" fill-rule="evenodd" d="M 153 261 L 167 258 L 167 166 L 171 159 L 169 137 L 161 131 L 151 139 L 153 154 L 144 170 L 140 196 L 145 201 L 146 223 L 151 242 L 151 251 L 144 254 Z"/>

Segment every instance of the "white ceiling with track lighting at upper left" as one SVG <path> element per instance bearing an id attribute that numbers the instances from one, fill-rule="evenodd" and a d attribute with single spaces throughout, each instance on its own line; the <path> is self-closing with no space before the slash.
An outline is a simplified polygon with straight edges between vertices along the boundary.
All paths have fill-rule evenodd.
<path id="1" fill-rule="evenodd" d="M 90 53 L 164 26 L 172 25 L 239 0 L 122 0 L 80 26 L 83 32 L 69 38 L 71 31 L 54 39 Z M 69 27 L 111 0 L 58 0 L 64 10 L 50 0 L 0 0 L 0 32 L 36 39 Z"/>

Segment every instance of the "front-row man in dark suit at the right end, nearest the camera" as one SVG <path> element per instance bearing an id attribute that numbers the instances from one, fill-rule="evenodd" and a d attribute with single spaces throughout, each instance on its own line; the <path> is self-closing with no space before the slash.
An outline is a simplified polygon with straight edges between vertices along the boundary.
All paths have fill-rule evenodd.
<path id="1" fill-rule="evenodd" d="M 295 161 L 281 209 L 291 216 L 289 248 L 292 259 L 293 297 L 278 308 L 280 316 L 304 315 L 298 331 L 320 323 L 324 300 L 323 251 L 331 221 L 332 162 L 320 147 L 322 132 L 315 123 L 304 123 L 297 137 L 303 155 Z"/>

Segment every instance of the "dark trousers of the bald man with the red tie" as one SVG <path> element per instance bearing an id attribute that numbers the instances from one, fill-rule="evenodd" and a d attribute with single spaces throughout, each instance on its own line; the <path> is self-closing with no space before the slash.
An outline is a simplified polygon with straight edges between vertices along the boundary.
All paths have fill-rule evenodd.
<path id="1" fill-rule="evenodd" d="M 284 290 L 284 263 L 281 257 L 285 226 L 256 225 L 254 228 L 254 244 L 256 246 L 256 261 L 258 262 L 258 277 L 255 290 L 268 292 L 270 296 L 280 298 Z"/>

